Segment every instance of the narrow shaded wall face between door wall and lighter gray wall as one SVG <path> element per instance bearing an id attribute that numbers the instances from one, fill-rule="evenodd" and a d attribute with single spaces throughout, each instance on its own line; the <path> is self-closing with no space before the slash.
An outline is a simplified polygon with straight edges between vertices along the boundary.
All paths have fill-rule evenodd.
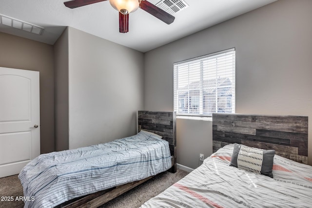
<path id="1" fill-rule="evenodd" d="M 68 28 L 54 44 L 55 150 L 68 150 Z"/>

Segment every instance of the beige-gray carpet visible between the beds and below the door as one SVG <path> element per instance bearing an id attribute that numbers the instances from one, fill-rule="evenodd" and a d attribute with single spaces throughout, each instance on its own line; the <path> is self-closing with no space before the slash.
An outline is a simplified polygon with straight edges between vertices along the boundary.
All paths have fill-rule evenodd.
<path id="1" fill-rule="evenodd" d="M 160 173 L 136 188 L 107 202 L 100 208 L 138 208 L 187 174 L 188 172 L 179 169 L 177 169 L 176 173 L 167 171 Z M 13 196 L 14 200 L 1 201 L 5 196 Z M 17 196 L 23 196 L 23 189 L 18 175 L 0 178 L 0 208 L 23 208 L 24 202 L 16 200 Z"/>

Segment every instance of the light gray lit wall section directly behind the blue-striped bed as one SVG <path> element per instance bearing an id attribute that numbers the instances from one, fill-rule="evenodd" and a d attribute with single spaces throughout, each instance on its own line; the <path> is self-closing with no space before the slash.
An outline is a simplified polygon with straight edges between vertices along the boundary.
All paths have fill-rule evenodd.
<path id="1" fill-rule="evenodd" d="M 71 27 L 68 37 L 69 148 L 135 134 L 143 53 Z"/>

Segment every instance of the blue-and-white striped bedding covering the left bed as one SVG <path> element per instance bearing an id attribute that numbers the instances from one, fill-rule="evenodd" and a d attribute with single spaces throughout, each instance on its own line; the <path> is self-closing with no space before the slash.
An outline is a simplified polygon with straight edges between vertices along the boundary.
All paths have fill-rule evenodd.
<path id="1" fill-rule="evenodd" d="M 21 170 L 25 208 L 55 207 L 70 199 L 156 175 L 171 168 L 169 144 L 153 133 L 41 154 Z"/>

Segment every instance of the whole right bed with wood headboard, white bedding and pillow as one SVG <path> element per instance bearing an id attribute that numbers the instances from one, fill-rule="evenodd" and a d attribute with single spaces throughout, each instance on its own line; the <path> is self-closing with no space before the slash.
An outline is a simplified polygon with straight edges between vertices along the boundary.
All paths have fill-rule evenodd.
<path id="1" fill-rule="evenodd" d="M 213 151 L 141 208 L 312 207 L 307 116 L 213 113 Z"/>

